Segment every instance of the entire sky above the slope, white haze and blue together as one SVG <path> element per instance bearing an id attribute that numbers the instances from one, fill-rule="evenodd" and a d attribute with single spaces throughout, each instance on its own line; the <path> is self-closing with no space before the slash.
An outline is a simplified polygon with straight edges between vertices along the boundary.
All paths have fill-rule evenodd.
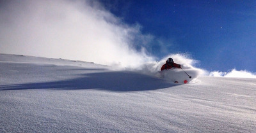
<path id="1" fill-rule="evenodd" d="M 136 67 L 181 53 L 256 72 L 255 1 L 0 1 L 0 53 Z"/>

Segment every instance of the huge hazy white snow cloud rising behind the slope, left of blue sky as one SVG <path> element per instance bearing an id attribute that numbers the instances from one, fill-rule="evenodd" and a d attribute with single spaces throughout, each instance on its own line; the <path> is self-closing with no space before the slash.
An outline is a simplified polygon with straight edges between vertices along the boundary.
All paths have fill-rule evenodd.
<path id="1" fill-rule="evenodd" d="M 97 1 L 2 1 L 0 53 L 136 67 L 154 60 L 135 40 L 152 39 Z"/>

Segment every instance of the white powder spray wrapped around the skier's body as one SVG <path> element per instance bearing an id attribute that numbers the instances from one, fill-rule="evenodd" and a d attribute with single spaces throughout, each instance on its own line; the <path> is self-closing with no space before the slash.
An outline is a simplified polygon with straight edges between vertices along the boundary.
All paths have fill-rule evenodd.
<path id="1" fill-rule="evenodd" d="M 177 64 L 180 64 L 182 69 L 172 69 L 170 70 L 164 70 L 161 71 L 161 67 L 163 64 L 165 64 L 166 60 L 168 58 L 172 58 L 173 61 Z M 191 81 L 194 78 L 205 75 L 206 71 L 203 69 L 199 69 L 194 67 L 195 64 L 197 64 L 197 60 L 193 60 L 189 57 L 188 54 L 170 54 L 163 59 L 154 62 L 147 62 L 146 64 L 143 64 L 139 69 L 137 69 L 138 72 L 143 74 L 148 74 L 151 76 L 157 76 L 164 78 L 168 81 L 179 81 L 179 83 L 182 83 L 184 80 Z M 189 78 L 189 76 L 186 73 L 189 74 L 192 78 Z"/>

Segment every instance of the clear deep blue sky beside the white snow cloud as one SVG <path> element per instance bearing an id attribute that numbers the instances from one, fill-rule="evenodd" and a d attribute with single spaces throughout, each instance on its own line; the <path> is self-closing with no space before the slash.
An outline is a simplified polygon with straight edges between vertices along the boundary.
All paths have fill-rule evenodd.
<path id="1" fill-rule="evenodd" d="M 256 72 L 255 0 L 100 2 L 126 24 L 140 24 L 143 34 L 155 36 L 146 48 L 156 57 L 189 53 L 208 71 Z"/>

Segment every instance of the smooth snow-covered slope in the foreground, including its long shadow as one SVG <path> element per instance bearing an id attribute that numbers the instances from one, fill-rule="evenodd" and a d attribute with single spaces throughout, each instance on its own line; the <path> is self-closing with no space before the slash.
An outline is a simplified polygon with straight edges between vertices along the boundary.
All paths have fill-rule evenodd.
<path id="1" fill-rule="evenodd" d="M 256 79 L 186 85 L 62 59 L 0 54 L 0 132 L 255 132 Z"/>

